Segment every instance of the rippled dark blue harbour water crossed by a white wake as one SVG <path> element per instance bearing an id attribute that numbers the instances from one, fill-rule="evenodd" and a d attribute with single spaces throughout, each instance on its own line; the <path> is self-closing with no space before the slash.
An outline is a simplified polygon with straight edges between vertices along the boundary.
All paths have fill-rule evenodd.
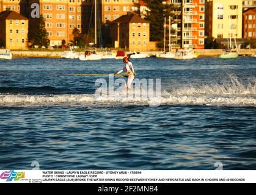
<path id="1" fill-rule="evenodd" d="M 161 96 L 99 98 L 108 77 L 68 76 L 119 60 L 0 60 L 0 169 L 256 168 L 256 58 L 131 62 Z"/>

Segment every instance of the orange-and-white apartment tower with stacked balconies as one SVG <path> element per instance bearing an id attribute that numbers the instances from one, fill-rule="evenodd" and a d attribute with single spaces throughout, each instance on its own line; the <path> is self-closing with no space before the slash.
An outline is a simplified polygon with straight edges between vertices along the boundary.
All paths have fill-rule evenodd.
<path id="1" fill-rule="evenodd" d="M 205 40 L 205 0 L 170 0 L 177 9 L 172 10 L 174 21 L 171 35 L 173 48 L 203 49 Z"/>

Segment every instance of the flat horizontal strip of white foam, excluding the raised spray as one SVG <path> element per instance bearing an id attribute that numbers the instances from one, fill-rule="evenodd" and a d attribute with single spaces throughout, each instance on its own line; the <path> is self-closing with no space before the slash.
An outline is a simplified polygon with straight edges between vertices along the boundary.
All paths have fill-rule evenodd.
<path id="1" fill-rule="evenodd" d="M 112 105 L 149 105 L 161 100 L 161 105 L 215 105 L 256 107 L 255 96 L 216 96 L 216 95 L 170 95 L 161 98 L 100 98 L 93 94 L 29 96 L 0 95 L 1 106 L 35 106 L 35 105 L 70 105 L 70 106 L 104 106 Z"/>

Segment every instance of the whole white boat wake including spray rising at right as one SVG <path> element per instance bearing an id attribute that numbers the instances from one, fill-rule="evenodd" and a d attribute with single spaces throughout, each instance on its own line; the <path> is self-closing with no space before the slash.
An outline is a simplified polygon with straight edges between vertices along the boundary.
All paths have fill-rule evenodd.
<path id="1" fill-rule="evenodd" d="M 68 107 L 128 107 L 154 105 L 206 105 L 218 107 L 256 107 L 256 79 L 243 85 L 233 77 L 222 85 L 214 83 L 200 87 L 163 90 L 159 96 L 99 96 L 98 94 L 26 95 L 0 94 L 1 107 L 68 106 Z"/>

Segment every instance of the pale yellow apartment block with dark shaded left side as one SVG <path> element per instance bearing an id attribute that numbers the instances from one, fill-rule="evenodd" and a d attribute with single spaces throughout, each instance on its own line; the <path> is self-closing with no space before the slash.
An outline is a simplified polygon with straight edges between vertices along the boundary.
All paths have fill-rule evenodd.
<path id="1" fill-rule="evenodd" d="M 243 0 L 208 0 L 206 34 L 214 38 L 242 38 Z"/>

